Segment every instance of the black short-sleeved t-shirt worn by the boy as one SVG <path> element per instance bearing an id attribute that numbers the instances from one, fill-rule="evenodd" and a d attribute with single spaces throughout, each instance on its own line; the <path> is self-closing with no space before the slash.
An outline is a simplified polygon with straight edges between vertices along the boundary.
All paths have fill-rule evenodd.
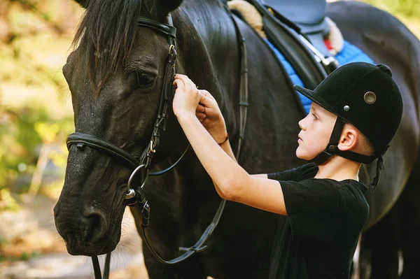
<path id="1" fill-rule="evenodd" d="M 268 174 L 279 180 L 288 213 L 279 215 L 270 279 L 349 278 L 369 215 L 367 187 L 351 179 L 316 179 L 317 171 L 316 164 L 305 164 Z"/>

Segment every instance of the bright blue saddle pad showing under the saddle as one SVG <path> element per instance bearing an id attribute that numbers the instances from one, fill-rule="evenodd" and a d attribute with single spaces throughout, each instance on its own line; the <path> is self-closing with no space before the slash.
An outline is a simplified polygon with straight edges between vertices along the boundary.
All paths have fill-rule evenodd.
<path id="1" fill-rule="evenodd" d="M 272 48 L 272 50 L 277 56 L 277 59 L 279 59 L 281 64 L 283 64 L 284 69 L 286 69 L 286 73 L 288 74 L 290 80 L 292 80 L 292 83 L 294 85 L 304 86 L 302 80 L 300 80 L 299 76 L 297 76 L 295 69 L 293 69 L 293 67 L 281 54 L 281 52 L 274 48 L 274 45 L 272 45 L 272 43 L 270 43 L 267 39 L 265 39 L 265 42 L 267 43 L 267 45 L 269 45 L 270 48 Z M 357 48 L 356 45 L 352 45 L 351 43 L 345 40 L 342 51 L 337 53 L 335 59 L 337 59 L 340 66 L 351 62 L 367 62 L 370 64 L 374 64 L 373 60 L 370 57 L 368 57 L 362 50 L 360 50 L 360 48 Z M 300 94 L 299 92 L 297 92 L 297 95 L 300 98 L 304 110 L 306 111 L 306 113 L 309 113 L 309 108 L 311 107 L 312 101 Z"/>

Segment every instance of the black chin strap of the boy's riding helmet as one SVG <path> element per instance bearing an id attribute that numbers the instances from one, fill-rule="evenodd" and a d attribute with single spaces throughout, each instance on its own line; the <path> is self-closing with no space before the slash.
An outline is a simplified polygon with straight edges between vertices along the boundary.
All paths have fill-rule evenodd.
<path id="1" fill-rule="evenodd" d="M 381 169 L 384 164 L 384 155 L 385 155 L 386 150 L 388 149 L 388 146 L 385 148 L 383 152 L 379 154 L 375 152 L 375 154 L 372 156 L 361 155 L 356 152 L 352 152 L 348 150 L 346 151 L 339 150 L 338 143 L 339 143 L 339 138 L 341 137 L 341 134 L 344 128 L 344 124 L 346 124 L 346 122 L 342 118 L 337 117 L 337 120 L 335 120 L 334 129 L 332 129 L 330 142 L 320 154 L 316 155 L 316 157 L 311 160 L 311 162 L 314 162 L 315 164 L 320 165 L 327 162 L 328 159 L 332 157 L 332 155 L 338 155 L 339 157 L 344 157 L 346 159 L 350 159 L 352 161 L 363 163 L 363 164 L 370 164 L 374 161 L 374 159 L 378 158 L 377 173 L 376 173 L 376 176 L 372 179 L 372 182 L 370 183 L 370 185 L 372 185 L 373 187 L 372 191 L 374 191 L 378 185 L 379 178 L 381 176 Z"/>

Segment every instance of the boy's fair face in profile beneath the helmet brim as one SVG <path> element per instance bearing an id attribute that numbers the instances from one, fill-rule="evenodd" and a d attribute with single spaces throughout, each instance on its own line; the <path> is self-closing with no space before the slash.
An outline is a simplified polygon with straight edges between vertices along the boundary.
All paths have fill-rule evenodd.
<path id="1" fill-rule="evenodd" d="M 309 114 L 300 120 L 296 156 L 300 159 L 311 160 L 321 153 L 330 141 L 337 115 L 330 113 L 317 103 L 311 104 Z"/>

